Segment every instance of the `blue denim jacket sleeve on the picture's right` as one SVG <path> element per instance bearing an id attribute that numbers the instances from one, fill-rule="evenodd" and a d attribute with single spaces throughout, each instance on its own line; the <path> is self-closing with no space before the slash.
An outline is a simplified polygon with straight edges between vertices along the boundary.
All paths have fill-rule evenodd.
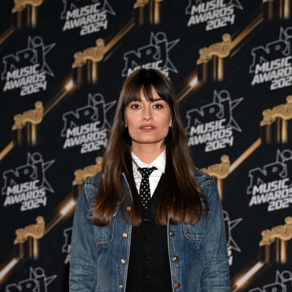
<path id="1" fill-rule="evenodd" d="M 211 179 L 211 178 L 210 178 Z M 226 233 L 220 196 L 216 183 L 211 179 L 208 198 L 211 212 L 205 221 L 204 265 L 201 274 L 202 291 L 229 292 L 229 261 Z M 202 190 L 204 192 L 205 188 Z"/>

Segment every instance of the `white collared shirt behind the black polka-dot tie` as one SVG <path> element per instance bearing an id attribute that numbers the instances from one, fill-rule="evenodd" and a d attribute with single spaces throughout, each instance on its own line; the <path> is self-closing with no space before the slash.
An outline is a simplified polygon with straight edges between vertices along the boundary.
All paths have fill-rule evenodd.
<path id="1" fill-rule="evenodd" d="M 150 185 L 150 196 L 152 197 L 158 182 L 164 173 L 165 170 L 165 161 L 166 161 L 166 152 L 165 152 L 165 147 L 163 152 L 151 163 L 151 164 L 145 164 L 143 163 L 139 158 L 137 158 L 133 153 L 132 153 L 132 159 L 133 159 L 133 175 L 134 175 L 134 180 L 136 184 L 137 191 L 139 193 L 140 189 L 140 183 L 142 176 L 140 172 L 138 171 L 138 167 L 147 167 L 151 168 L 155 166 L 157 169 L 152 172 L 152 174 L 149 177 L 149 185 Z"/>

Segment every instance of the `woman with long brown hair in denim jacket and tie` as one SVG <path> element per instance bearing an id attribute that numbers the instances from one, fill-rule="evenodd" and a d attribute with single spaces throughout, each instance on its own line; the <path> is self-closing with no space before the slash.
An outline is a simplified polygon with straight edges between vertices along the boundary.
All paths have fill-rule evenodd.
<path id="1" fill-rule="evenodd" d="M 123 85 L 102 171 L 80 194 L 70 291 L 175 290 L 230 291 L 222 206 L 194 168 L 170 82 L 139 69 Z"/>

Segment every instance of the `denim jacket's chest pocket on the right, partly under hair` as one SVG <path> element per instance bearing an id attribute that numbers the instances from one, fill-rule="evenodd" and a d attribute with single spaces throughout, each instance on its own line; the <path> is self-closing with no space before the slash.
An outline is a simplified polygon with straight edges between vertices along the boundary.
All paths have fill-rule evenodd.
<path id="1" fill-rule="evenodd" d="M 208 214 L 211 210 L 208 210 Z M 205 206 L 202 203 L 202 216 L 200 221 L 197 222 L 195 225 L 191 224 L 182 224 L 184 236 L 189 240 L 204 240 L 205 239 L 205 226 L 206 226 L 206 210 Z"/>

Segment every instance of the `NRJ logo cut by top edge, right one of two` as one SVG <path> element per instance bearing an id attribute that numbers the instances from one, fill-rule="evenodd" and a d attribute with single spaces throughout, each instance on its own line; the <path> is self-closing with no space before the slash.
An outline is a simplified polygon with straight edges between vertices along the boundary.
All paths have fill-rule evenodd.
<path id="1" fill-rule="evenodd" d="M 206 23 L 206 31 L 234 24 L 234 8 L 243 10 L 239 0 L 189 0 L 186 15 L 190 15 L 188 26 Z"/>

